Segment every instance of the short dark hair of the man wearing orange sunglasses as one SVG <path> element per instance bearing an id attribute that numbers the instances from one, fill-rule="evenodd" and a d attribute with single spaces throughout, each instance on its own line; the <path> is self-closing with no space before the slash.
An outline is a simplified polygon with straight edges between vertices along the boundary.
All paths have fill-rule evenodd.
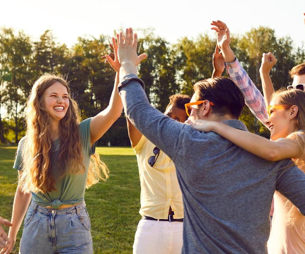
<path id="1" fill-rule="evenodd" d="M 225 77 L 204 79 L 197 82 L 193 89 L 197 92 L 199 101 L 209 100 L 215 104 L 212 106 L 214 114 L 230 114 L 236 119 L 240 117 L 245 106 L 245 97 L 231 79 Z"/>

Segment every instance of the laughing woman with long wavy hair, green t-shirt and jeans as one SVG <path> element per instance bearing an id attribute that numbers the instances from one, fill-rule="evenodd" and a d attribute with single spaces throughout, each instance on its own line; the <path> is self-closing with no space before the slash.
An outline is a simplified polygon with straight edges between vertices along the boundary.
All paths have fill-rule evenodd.
<path id="1" fill-rule="evenodd" d="M 93 253 L 84 193 L 108 178 L 95 147 L 122 113 L 118 81 L 117 73 L 109 106 L 84 121 L 64 78 L 46 74 L 34 83 L 26 104 L 26 135 L 14 163 L 19 182 L 13 226 L 1 254 L 14 247 L 24 216 L 20 253 Z"/>

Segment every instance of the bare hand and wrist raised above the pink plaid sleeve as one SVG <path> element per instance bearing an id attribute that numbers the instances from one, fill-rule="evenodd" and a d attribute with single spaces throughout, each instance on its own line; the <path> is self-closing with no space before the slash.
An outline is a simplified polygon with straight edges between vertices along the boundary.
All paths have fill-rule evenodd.
<path id="1" fill-rule="evenodd" d="M 212 30 L 217 33 L 217 45 L 222 52 L 222 56 L 226 63 L 233 63 L 235 61 L 235 55 L 230 48 L 230 31 L 225 23 L 220 20 L 213 21 L 211 25 Z"/>

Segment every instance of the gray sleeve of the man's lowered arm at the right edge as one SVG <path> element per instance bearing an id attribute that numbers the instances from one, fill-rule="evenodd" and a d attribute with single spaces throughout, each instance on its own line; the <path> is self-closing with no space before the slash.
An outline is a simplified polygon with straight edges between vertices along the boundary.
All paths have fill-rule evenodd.
<path id="1" fill-rule="evenodd" d="M 287 160 L 285 160 L 287 161 Z M 292 164 L 291 160 L 288 160 Z M 286 165 L 289 165 L 286 163 Z M 276 190 L 305 215 L 305 174 L 296 166 L 279 170 Z"/>

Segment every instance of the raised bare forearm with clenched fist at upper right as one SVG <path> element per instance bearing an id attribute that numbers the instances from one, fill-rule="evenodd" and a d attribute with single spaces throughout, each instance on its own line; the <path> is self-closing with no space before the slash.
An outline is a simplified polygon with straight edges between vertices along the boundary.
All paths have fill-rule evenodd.
<path id="1" fill-rule="evenodd" d="M 275 56 L 271 52 L 268 52 L 268 54 L 263 53 L 262 63 L 260 67 L 260 75 L 264 93 L 264 100 L 267 108 L 270 104 L 271 95 L 274 92 L 274 87 L 270 78 L 270 70 L 276 64 L 276 61 L 277 60 Z"/>

